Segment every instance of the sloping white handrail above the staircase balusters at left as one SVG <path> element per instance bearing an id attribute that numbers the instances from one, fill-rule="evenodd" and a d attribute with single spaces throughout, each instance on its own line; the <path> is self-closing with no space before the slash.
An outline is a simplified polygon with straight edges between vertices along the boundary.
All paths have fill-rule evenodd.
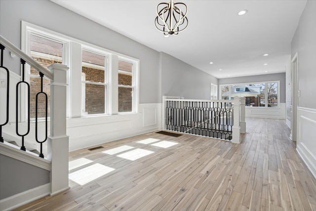
<path id="1" fill-rule="evenodd" d="M 31 56 L 24 53 L 22 50 L 17 48 L 14 44 L 6 40 L 4 37 L 0 35 L 0 43 L 4 45 L 7 49 L 9 49 L 12 53 L 22 58 L 26 63 L 34 67 L 36 70 L 43 73 L 48 79 L 53 80 L 53 74 L 48 69 L 41 66 L 39 63 L 37 63 Z"/>

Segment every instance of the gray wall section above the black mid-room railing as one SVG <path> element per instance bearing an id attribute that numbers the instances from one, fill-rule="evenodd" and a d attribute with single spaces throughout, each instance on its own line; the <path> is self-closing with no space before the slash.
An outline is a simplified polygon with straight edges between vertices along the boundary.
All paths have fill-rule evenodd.
<path id="1" fill-rule="evenodd" d="M 210 99 L 210 84 L 217 79 L 209 74 L 160 52 L 161 93 L 186 99 Z"/>

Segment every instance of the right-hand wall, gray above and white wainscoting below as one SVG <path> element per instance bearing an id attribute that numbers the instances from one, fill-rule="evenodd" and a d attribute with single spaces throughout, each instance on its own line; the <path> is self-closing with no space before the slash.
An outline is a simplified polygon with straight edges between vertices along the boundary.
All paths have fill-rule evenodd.
<path id="1" fill-rule="evenodd" d="M 316 1 L 308 0 L 291 42 L 291 58 L 298 52 L 296 149 L 316 177 Z"/>

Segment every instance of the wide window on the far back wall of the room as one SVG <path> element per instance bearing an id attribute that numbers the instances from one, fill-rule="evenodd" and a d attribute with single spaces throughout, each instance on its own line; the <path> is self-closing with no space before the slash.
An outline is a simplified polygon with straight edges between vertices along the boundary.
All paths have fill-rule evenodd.
<path id="1" fill-rule="evenodd" d="M 277 107 L 278 83 L 221 85 L 221 99 L 232 100 L 239 96 L 246 98 L 246 106 L 249 107 Z"/>

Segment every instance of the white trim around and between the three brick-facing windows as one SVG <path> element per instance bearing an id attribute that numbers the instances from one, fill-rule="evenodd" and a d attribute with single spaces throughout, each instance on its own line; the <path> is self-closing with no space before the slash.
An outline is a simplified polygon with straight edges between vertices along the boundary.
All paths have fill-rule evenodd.
<path id="1" fill-rule="evenodd" d="M 109 115 L 114 115 L 114 114 L 118 114 L 113 112 L 113 110 L 118 110 L 118 108 L 113 108 L 113 105 L 115 105 L 115 103 L 113 103 L 113 87 L 114 84 L 112 82 L 112 74 L 113 74 L 113 70 L 112 70 L 112 66 L 113 64 L 111 64 L 112 61 L 112 57 L 119 57 L 122 60 L 126 60 L 128 62 L 133 63 L 133 85 L 134 85 L 134 97 L 133 97 L 133 112 L 124 112 L 124 113 L 119 113 L 119 114 L 133 114 L 133 113 L 138 113 L 139 111 L 139 72 L 140 72 L 140 60 L 136 59 L 134 57 L 130 57 L 112 50 L 108 50 L 106 48 L 88 43 L 88 42 L 84 42 L 45 28 L 42 28 L 40 26 L 37 26 L 35 24 L 31 24 L 28 23 L 26 21 L 22 21 L 21 24 L 21 49 L 23 52 L 27 53 L 28 55 L 30 55 L 29 49 L 30 49 L 30 43 L 29 40 L 26 39 L 28 37 L 28 33 L 35 33 L 35 34 L 40 34 L 40 36 L 47 36 L 48 39 L 56 39 L 58 42 L 60 41 L 64 41 L 65 42 L 65 47 L 63 48 L 65 50 L 65 52 L 63 52 L 63 64 L 67 65 L 70 67 L 70 71 L 68 71 L 68 76 L 67 76 L 67 81 L 69 82 L 69 86 L 67 87 L 67 117 L 68 118 L 72 118 L 72 117 L 78 117 L 76 115 L 73 114 L 72 111 L 72 104 L 80 104 L 81 105 L 81 98 L 78 102 L 73 102 L 73 98 L 72 98 L 72 90 L 76 87 L 74 87 L 75 83 L 72 83 L 72 55 L 71 55 L 71 46 L 72 43 L 79 43 L 81 45 L 81 49 L 82 48 L 87 48 L 87 49 L 93 49 L 96 52 L 102 52 L 102 54 L 106 54 L 109 55 L 108 58 L 108 64 L 107 64 L 107 70 L 108 70 L 108 80 L 107 81 L 107 99 L 106 99 L 106 111 L 108 114 L 101 114 L 101 115 L 87 115 L 89 117 L 93 117 L 93 116 L 109 116 Z M 69 52 L 69 53 L 68 53 Z M 69 57 L 68 57 L 69 55 Z M 79 59 L 80 63 L 81 63 L 81 58 Z M 110 71 L 111 70 L 111 71 Z M 29 71 L 27 71 L 29 72 Z M 81 71 L 80 71 L 81 73 Z M 27 75 L 27 79 L 29 80 L 30 78 L 30 74 L 26 74 Z M 81 76 L 81 74 L 80 74 Z M 28 81 L 29 82 L 29 81 Z M 80 77 L 80 87 L 81 87 L 81 77 Z M 78 84 L 77 84 L 78 85 Z M 77 87 L 78 88 L 78 87 Z M 81 88 L 80 88 L 81 89 Z M 116 86 L 116 89 L 118 89 L 118 86 Z M 24 96 L 24 99 L 21 99 L 21 102 L 26 102 L 26 98 Z M 116 103 L 116 105 L 118 105 L 118 102 Z M 23 105 L 22 105 L 23 106 Z M 81 110 L 81 109 L 80 109 Z M 78 115 L 78 114 L 77 114 Z M 80 116 L 80 117 L 87 117 L 87 116 Z M 26 111 L 21 111 L 21 117 L 23 117 L 22 120 L 25 121 L 25 117 L 26 117 Z"/>

